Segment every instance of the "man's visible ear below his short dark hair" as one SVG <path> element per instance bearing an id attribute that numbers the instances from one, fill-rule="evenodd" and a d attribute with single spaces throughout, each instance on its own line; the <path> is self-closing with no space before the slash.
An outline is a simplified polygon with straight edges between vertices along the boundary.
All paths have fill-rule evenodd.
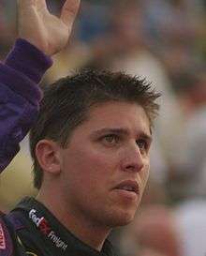
<path id="1" fill-rule="evenodd" d="M 36 146 L 38 164 L 48 173 L 61 172 L 60 145 L 50 140 L 41 140 Z"/>

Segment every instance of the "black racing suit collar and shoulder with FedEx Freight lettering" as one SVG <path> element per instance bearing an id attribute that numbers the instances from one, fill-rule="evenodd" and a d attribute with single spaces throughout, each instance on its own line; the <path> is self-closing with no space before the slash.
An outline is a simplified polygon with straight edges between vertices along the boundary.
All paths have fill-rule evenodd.
<path id="1" fill-rule="evenodd" d="M 0 250 L 1 256 L 113 256 L 108 240 L 101 252 L 90 248 L 34 198 L 23 199 L 1 218 L 1 227 L 7 246 Z"/>

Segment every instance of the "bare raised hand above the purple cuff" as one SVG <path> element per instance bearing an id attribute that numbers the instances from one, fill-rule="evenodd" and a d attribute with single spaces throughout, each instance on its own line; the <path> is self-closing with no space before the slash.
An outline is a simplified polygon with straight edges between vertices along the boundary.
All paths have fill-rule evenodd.
<path id="1" fill-rule="evenodd" d="M 60 18 L 52 15 L 46 0 L 17 0 L 19 37 L 48 55 L 67 43 L 81 0 L 66 0 Z"/>

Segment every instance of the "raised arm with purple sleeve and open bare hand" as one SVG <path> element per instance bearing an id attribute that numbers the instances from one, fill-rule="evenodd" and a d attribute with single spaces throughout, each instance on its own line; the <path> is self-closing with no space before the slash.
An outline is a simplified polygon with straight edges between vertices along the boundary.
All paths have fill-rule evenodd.
<path id="1" fill-rule="evenodd" d="M 79 4 L 67 0 L 58 19 L 45 0 L 18 1 L 21 39 L 0 64 L 0 172 L 36 120 L 41 98 L 37 83 L 51 67 L 49 56 L 66 46 Z"/>

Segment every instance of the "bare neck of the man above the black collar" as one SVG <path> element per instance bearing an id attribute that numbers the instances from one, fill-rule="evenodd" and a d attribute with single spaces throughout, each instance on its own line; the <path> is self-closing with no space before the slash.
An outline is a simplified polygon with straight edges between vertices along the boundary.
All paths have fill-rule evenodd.
<path id="1" fill-rule="evenodd" d="M 78 213 L 69 209 L 56 195 L 47 195 L 41 189 L 37 195 L 37 201 L 43 203 L 69 232 L 73 233 L 83 243 L 91 248 L 100 251 L 110 233 L 110 228 L 103 227 L 95 221 L 86 218 L 83 213 Z"/>

